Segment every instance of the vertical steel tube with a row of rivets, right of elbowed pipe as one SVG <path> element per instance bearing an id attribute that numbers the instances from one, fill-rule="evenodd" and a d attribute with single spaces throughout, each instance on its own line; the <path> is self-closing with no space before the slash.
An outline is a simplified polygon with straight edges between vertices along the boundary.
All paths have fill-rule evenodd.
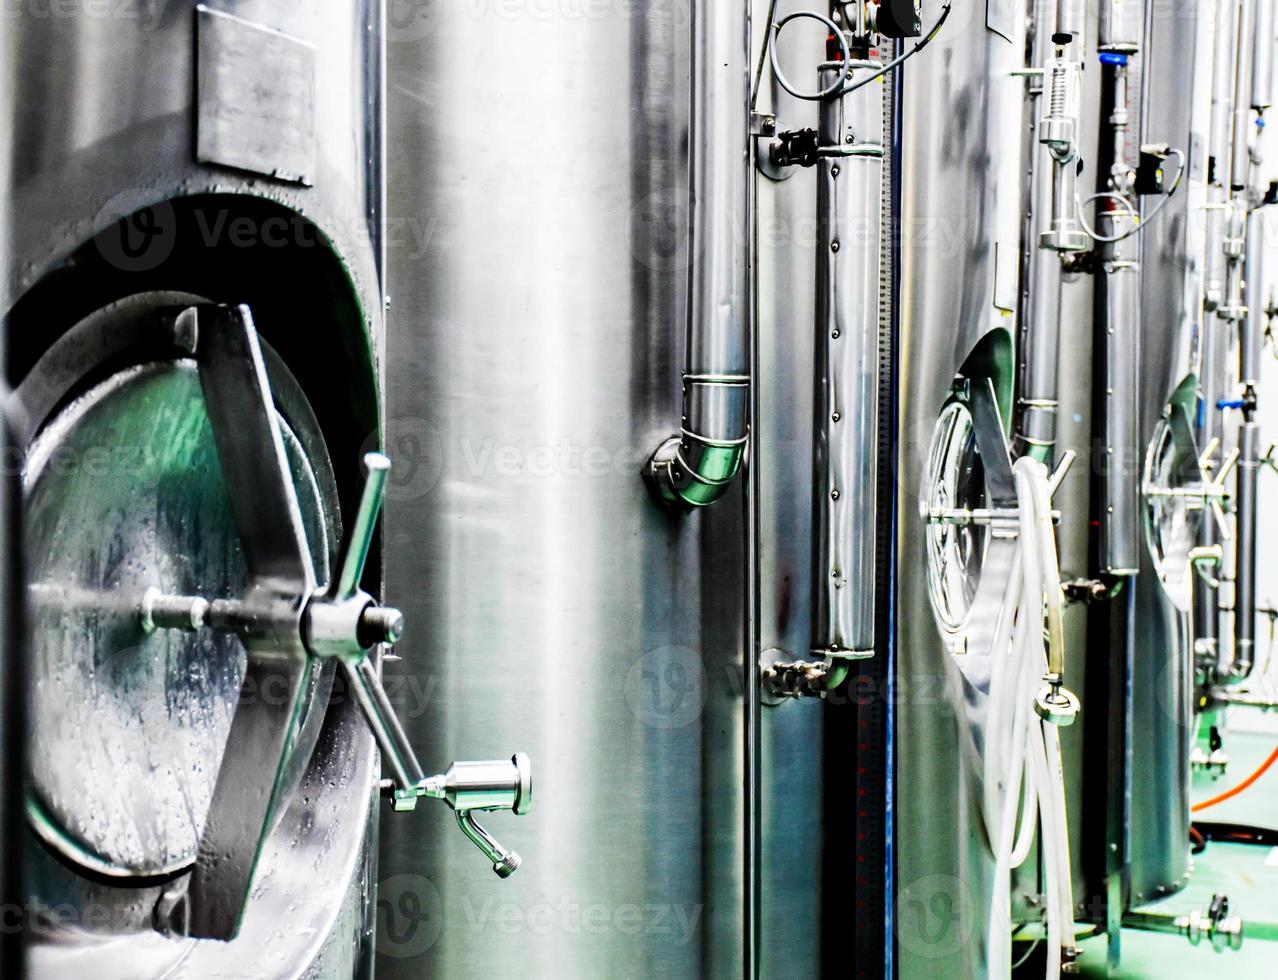
<path id="1" fill-rule="evenodd" d="M 820 87 L 846 70 L 822 65 Z M 874 652 L 882 91 L 826 100 L 818 123 L 819 146 L 855 139 L 864 152 L 817 162 L 814 657 Z"/>

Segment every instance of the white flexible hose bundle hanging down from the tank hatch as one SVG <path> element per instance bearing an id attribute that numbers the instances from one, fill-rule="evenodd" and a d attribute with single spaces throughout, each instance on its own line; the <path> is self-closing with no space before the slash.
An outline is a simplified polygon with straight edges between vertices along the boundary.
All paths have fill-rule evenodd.
<path id="1" fill-rule="evenodd" d="M 994 627 L 984 740 L 984 815 L 994 850 L 988 966 L 992 980 L 1011 976 L 1011 877 L 1029 857 L 1040 825 L 1047 976 L 1056 980 L 1062 951 L 1074 946 L 1074 885 L 1061 742 L 1056 727 L 1039 719 L 1034 699 L 1048 668 L 1044 609 L 1059 622 L 1061 572 L 1047 469 L 1024 457 L 1012 474 L 1020 528 Z M 1058 629 L 1051 632 L 1059 635 Z"/>

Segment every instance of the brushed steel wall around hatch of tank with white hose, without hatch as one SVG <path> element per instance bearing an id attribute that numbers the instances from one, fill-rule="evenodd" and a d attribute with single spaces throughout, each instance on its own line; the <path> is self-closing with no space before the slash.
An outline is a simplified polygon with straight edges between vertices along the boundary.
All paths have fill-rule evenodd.
<path id="1" fill-rule="evenodd" d="M 924 23 L 935 17 L 927 4 Z M 902 80 L 901 418 L 897 510 L 896 898 L 898 972 L 983 976 L 993 857 L 980 816 L 969 705 L 983 695 L 934 624 L 919 516 L 928 447 L 958 369 L 1012 330 L 999 276 L 1020 250 L 1024 11 L 1006 40 L 956 15 Z M 1003 263 L 999 259 L 1003 259 Z M 1003 264 L 1003 272 L 999 266 Z M 1007 339 L 1010 340 L 1010 337 Z M 1007 340 L 1003 341 L 1006 348 Z M 1008 351 L 1010 355 L 1010 351 Z M 994 372 L 1003 418 L 1011 372 Z M 911 570 L 912 574 L 911 574 Z"/>

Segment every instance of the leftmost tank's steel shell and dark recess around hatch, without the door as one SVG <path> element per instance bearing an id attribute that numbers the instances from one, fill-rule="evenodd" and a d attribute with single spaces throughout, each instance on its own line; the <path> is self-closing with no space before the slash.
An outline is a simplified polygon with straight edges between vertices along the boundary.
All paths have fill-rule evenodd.
<path id="1" fill-rule="evenodd" d="M 20 356 L 9 358 L 9 382 L 20 381 L 61 331 L 130 293 L 196 289 L 220 302 L 249 300 L 316 406 L 346 502 L 353 486 L 358 492 L 360 445 L 376 445 L 381 415 L 373 377 L 386 238 L 381 4 L 212 0 L 207 6 L 313 46 L 314 185 L 198 162 L 196 4 L 138 8 L 135 17 L 95 15 L 87 8 L 52 17 L 35 8 L 12 11 L 4 18 L 13 41 L 5 72 L 14 77 L 5 111 L 19 135 L 5 161 L 12 162 L 18 218 L 3 271 L 3 308 L 10 325 L 27 326 L 6 337 L 10 353 L 17 341 Z M 150 208 L 132 229 L 143 233 L 141 241 L 130 240 L 129 225 L 120 221 L 138 208 Z M 244 244 L 243 224 L 235 224 L 245 217 L 252 247 Z M 396 234 L 412 240 L 424 233 L 401 225 Z M 32 316 L 24 299 L 36 293 L 43 302 Z M 317 350 L 325 355 L 317 358 Z M 14 363 L 19 377 L 13 377 Z M 327 741 L 321 741 L 327 747 L 314 756 L 282 818 L 286 829 L 262 857 L 270 870 L 240 943 L 106 935 L 139 923 L 151 928 L 157 891 L 142 889 L 141 905 L 121 903 L 141 917 L 112 919 L 102 934 L 40 931 L 31 971 L 158 975 L 179 961 L 174 975 L 367 970 L 373 873 L 360 841 L 368 833 L 374 753 L 353 705 L 343 704 L 327 722 Z M 330 783 L 340 787 L 340 804 L 320 792 Z M 81 901 L 84 879 L 68 880 L 36 845 L 24 850 L 33 862 L 32 894 L 55 905 L 60 896 Z M 109 885 L 93 887 L 105 889 L 100 905 L 119 902 Z M 281 934 L 286 916 L 300 925 Z M 155 949 L 143 952 L 148 943 Z"/>

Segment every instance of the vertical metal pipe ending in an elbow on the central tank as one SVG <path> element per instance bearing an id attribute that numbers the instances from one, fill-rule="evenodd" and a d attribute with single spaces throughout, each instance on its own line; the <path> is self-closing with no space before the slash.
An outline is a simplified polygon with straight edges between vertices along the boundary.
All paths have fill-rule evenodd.
<path id="1" fill-rule="evenodd" d="M 648 463 L 653 493 L 675 507 L 722 497 L 748 440 L 749 11 L 694 0 L 688 345 L 679 436 Z"/>

